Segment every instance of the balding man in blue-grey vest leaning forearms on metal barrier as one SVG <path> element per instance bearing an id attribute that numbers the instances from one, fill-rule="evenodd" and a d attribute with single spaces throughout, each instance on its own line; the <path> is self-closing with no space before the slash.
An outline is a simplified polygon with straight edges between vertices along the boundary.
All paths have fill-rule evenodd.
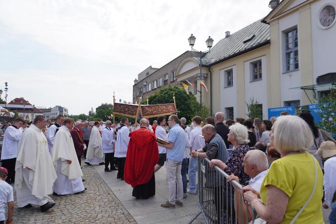
<path id="1" fill-rule="evenodd" d="M 199 150 L 192 151 L 191 156 L 194 158 L 207 158 L 209 160 L 218 159 L 225 163 L 229 158 L 229 154 L 223 138 L 216 133 L 215 127 L 209 124 L 203 126 L 202 135 L 205 139 L 206 145 Z M 218 220 L 220 220 L 220 208 L 223 207 L 224 202 L 223 181 L 221 181 L 218 175 L 216 175 L 216 172 L 214 172 L 212 169 L 206 170 L 205 178 L 208 186 L 214 189 L 213 194 L 215 205 L 217 209 Z M 222 202 L 222 205 L 220 202 Z"/>

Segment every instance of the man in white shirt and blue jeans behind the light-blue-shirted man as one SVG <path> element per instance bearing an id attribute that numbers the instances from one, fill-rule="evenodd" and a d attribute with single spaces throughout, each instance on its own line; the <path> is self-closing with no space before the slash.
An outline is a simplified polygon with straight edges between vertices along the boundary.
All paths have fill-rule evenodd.
<path id="1" fill-rule="evenodd" d="M 192 151 L 199 150 L 205 145 L 205 140 L 202 138 L 202 127 L 201 122 L 202 118 L 195 116 L 192 121 L 194 122 L 194 129 L 190 132 L 189 142 Z M 198 168 L 198 158 L 190 157 L 189 158 L 189 189 L 187 190 L 188 194 L 196 195 L 197 194 L 197 185 L 196 185 L 196 173 Z"/>

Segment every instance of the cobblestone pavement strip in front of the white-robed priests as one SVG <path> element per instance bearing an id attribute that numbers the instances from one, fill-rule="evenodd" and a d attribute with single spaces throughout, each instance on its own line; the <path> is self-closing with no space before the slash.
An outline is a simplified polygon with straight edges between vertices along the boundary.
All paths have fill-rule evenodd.
<path id="1" fill-rule="evenodd" d="M 93 166 L 84 165 L 82 171 L 85 193 L 52 195 L 56 205 L 47 212 L 39 207 L 17 208 L 15 203 L 13 223 L 137 223 Z"/>

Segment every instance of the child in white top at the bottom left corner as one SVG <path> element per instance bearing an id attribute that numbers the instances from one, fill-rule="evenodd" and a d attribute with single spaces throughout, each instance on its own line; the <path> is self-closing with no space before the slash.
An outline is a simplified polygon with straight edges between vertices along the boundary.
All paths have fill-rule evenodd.
<path id="1" fill-rule="evenodd" d="M 14 210 L 14 197 L 13 187 L 9 185 L 5 180 L 7 178 L 8 170 L 4 167 L 0 167 L 0 224 L 5 223 L 6 214 L 5 206 L 8 203 L 8 218 L 6 223 L 13 221 Z"/>

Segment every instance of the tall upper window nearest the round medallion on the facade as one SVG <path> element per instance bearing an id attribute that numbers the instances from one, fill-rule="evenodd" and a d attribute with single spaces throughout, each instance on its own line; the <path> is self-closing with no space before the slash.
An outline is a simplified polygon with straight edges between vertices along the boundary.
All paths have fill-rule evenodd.
<path id="1" fill-rule="evenodd" d="M 286 71 L 299 69 L 298 29 L 285 33 Z"/>

